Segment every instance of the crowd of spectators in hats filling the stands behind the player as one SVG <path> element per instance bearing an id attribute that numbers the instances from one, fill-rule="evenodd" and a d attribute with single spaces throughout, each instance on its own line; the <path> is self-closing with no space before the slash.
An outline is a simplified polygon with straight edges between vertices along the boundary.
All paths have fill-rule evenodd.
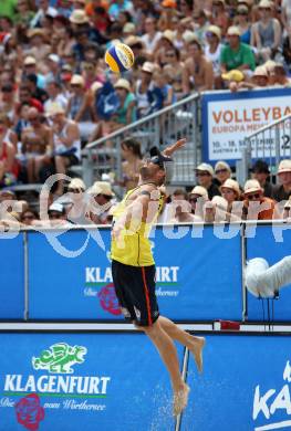
<path id="1" fill-rule="evenodd" d="M 122 76 L 104 62 L 116 41 L 135 55 Z M 288 87 L 290 74 L 287 0 L 1 0 L 1 210 L 22 224 L 41 224 L 39 207 L 19 199 L 12 186 L 70 172 L 87 143 L 193 92 Z M 128 190 L 138 182 L 143 155 L 133 138 L 121 151 L 115 185 Z M 281 161 L 278 186 L 263 160 L 246 185 L 222 160 L 215 168 L 201 164 L 191 190 L 163 189 L 159 221 L 290 218 L 290 164 Z M 48 197 L 51 223 L 110 222 L 112 186 L 96 181 L 86 190 L 79 178 L 60 179 Z"/>

